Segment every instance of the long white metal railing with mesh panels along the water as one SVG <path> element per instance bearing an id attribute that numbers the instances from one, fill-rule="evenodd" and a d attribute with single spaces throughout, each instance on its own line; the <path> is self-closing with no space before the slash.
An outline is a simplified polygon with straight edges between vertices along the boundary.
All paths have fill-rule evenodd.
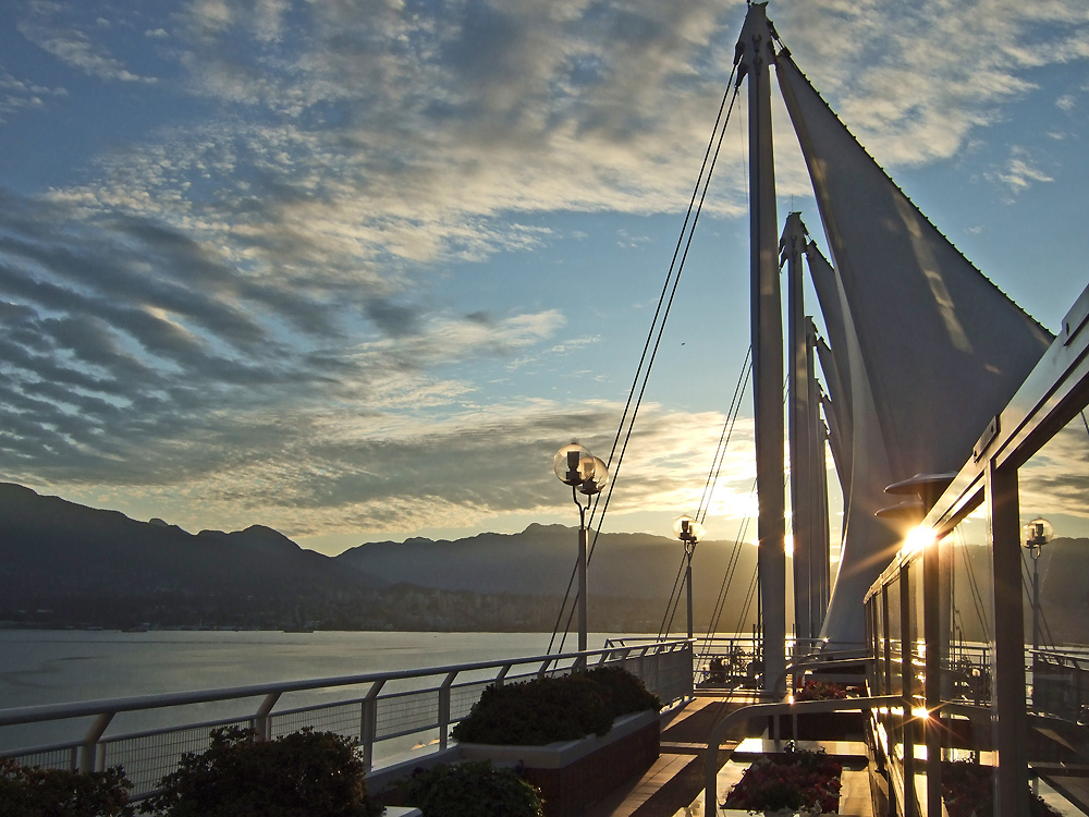
<path id="1" fill-rule="evenodd" d="M 389 759 L 399 748 L 404 752 L 414 744 L 445 748 L 450 728 L 468 715 L 490 684 L 563 675 L 582 667 L 616 666 L 641 679 L 668 705 L 693 693 L 692 656 L 687 641 L 611 644 L 586 653 L 0 709 L 0 733 L 4 728 L 90 719 L 89 729 L 77 740 L 0 752 L 0 756 L 27 766 L 82 771 L 121 765 L 134 784 L 133 798 L 140 800 L 178 768 L 183 754 L 207 749 L 213 729 L 241 725 L 268 740 L 309 727 L 351 737 L 370 771 L 376 757 Z M 353 694 L 340 696 L 341 691 Z M 299 693 L 338 697 L 277 708 Z M 107 734 L 119 715 L 223 703 L 238 704 L 241 712 L 198 722 L 180 715 L 176 725 Z M 400 740 L 414 736 L 419 740 L 407 744 Z M 391 751 L 383 751 L 386 747 Z"/>

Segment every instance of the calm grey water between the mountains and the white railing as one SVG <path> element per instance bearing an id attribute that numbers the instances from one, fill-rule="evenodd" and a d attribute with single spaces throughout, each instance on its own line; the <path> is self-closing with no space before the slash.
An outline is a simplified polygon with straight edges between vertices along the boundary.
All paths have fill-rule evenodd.
<path id="1" fill-rule="evenodd" d="M 604 637 L 592 636 L 590 644 L 603 645 Z M 549 634 L 542 633 L 0 630 L 0 709 L 533 656 L 543 654 L 548 642 Z M 299 693 L 281 703 L 306 705 L 329 697 Z M 186 707 L 184 714 L 119 716 L 108 734 L 248 715 L 254 708 L 256 704 L 234 702 Z M 0 729 L 0 749 L 78 737 L 88 723 Z"/>

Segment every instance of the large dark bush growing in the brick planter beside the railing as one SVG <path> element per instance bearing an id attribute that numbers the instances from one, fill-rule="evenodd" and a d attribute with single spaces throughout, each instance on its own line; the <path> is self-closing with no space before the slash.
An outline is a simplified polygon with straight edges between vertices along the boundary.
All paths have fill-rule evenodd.
<path id="1" fill-rule="evenodd" d="M 600 667 L 489 686 L 451 734 L 463 743 L 537 746 L 604 734 L 620 715 L 661 707 L 635 675 Z"/>

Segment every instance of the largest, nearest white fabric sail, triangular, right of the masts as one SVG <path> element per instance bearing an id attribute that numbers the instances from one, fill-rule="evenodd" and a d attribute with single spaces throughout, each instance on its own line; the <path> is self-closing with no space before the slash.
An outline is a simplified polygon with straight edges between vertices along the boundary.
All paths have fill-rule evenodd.
<path id="1" fill-rule="evenodd" d="M 810 273 L 851 405 L 849 431 L 839 429 L 851 437 L 844 542 L 822 635 L 860 642 L 862 597 L 904 533 L 873 515 L 890 504 L 884 487 L 958 471 L 1052 338 L 919 211 L 785 51 L 776 74 L 832 256 L 834 278 L 812 255 Z"/>

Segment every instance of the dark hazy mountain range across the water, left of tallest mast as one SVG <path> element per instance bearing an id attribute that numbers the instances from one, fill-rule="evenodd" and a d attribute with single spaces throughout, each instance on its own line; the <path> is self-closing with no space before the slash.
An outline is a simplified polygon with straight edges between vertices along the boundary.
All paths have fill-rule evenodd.
<path id="1" fill-rule="evenodd" d="M 9 625 L 551 629 L 577 547 L 577 529 L 534 524 L 328 557 L 261 525 L 191 534 L 3 483 L 0 534 L 0 621 Z M 682 552 L 666 537 L 600 534 L 588 572 L 591 629 L 657 630 Z M 733 561 L 722 630 L 743 618 L 756 551 L 697 547 L 697 629 Z"/>

